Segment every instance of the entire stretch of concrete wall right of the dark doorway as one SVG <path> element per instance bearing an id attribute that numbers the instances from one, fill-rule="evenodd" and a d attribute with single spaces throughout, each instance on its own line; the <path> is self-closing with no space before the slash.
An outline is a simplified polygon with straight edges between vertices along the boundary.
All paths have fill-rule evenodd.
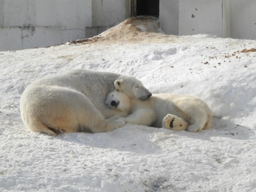
<path id="1" fill-rule="evenodd" d="M 256 39 L 255 10 L 255 0 L 160 0 L 159 17 L 166 34 Z"/>

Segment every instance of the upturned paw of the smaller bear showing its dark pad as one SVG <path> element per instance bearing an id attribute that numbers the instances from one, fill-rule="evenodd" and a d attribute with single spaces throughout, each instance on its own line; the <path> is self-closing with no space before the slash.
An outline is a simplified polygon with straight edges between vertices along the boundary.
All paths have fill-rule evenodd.
<path id="1" fill-rule="evenodd" d="M 175 131 L 186 130 L 188 127 L 188 123 L 186 121 L 172 114 L 167 114 L 163 118 L 162 124 L 163 128 Z"/>

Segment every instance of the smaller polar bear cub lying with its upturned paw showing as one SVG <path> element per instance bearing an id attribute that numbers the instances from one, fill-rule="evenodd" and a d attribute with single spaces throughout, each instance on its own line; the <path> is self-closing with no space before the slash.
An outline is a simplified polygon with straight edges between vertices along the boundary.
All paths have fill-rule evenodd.
<path id="1" fill-rule="evenodd" d="M 189 95 L 159 93 L 141 102 L 117 89 L 106 96 L 105 105 L 126 112 L 127 116 L 120 118 L 126 123 L 164 127 L 175 131 L 197 132 L 209 129 L 212 120 L 207 104 Z"/>

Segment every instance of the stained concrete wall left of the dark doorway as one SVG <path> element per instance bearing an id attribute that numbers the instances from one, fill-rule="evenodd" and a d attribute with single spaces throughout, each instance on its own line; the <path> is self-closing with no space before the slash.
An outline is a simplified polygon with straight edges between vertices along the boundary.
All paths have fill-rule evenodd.
<path id="1" fill-rule="evenodd" d="M 0 0 L 0 51 L 92 37 L 130 16 L 130 0 Z M 129 10 L 130 11 L 130 10 Z"/>

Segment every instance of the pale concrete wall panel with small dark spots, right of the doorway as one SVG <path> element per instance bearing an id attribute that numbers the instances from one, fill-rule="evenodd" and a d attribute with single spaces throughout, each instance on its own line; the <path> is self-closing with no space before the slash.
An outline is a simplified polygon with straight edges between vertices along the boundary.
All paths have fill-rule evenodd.
<path id="1" fill-rule="evenodd" d="M 179 35 L 222 36 L 222 0 L 180 0 Z"/>

